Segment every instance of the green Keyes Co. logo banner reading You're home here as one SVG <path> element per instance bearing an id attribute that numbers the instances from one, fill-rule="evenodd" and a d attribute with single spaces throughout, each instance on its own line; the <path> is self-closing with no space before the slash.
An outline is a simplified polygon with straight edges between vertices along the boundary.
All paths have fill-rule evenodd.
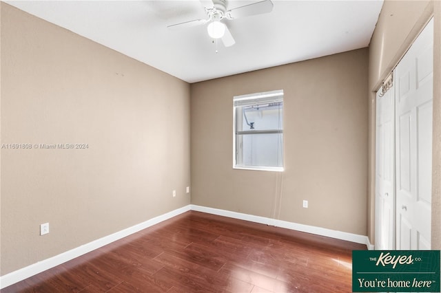
<path id="1" fill-rule="evenodd" d="M 440 292 L 440 250 L 353 250 L 353 292 Z"/>

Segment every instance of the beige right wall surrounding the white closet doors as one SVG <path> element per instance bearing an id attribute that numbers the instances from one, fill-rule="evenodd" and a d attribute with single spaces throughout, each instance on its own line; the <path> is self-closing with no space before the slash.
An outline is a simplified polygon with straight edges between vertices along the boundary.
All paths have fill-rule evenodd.
<path id="1" fill-rule="evenodd" d="M 384 1 L 369 45 L 369 219 L 374 242 L 375 91 L 435 16 L 433 65 L 432 248 L 441 248 L 441 1 Z"/>

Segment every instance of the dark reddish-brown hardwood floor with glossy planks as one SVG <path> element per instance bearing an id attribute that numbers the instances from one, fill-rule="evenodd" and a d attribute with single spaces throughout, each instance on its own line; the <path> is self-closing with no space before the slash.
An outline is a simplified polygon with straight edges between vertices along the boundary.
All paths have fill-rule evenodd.
<path id="1" fill-rule="evenodd" d="M 190 211 L 1 292 L 351 292 L 364 249 Z"/>

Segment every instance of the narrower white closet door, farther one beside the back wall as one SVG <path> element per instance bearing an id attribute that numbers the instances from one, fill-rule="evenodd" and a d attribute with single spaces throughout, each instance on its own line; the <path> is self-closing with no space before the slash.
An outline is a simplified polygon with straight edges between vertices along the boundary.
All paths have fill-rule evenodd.
<path id="1" fill-rule="evenodd" d="M 376 249 L 395 249 L 394 87 L 376 98 Z"/>

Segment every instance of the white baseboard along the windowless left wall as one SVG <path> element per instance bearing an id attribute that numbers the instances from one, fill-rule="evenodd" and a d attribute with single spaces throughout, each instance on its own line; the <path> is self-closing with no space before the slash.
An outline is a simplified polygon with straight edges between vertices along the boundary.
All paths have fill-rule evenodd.
<path id="1" fill-rule="evenodd" d="M 14 272 L 10 272 L 9 274 L 5 274 L 4 276 L 0 276 L 0 289 L 3 289 L 4 287 L 8 287 L 9 285 L 27 279 L 30 276 L 34 276 L 35 274 L 39 274 L 40 272 L 43 272 L 45 270 L 49 270 L 50 268 L 54 268 L 57 265 L 61 265 L 61 263 L 70 261 L 71 259 L 74 259 L 83 254 L 91 252 L 92 250 L 96 250 L 102 246 L 105 246 L 123 237 L 127 237 L 145 228 L 161 223 L 161 221 L 165 221 L 172 217 L 176 217 L 177 215 L 181 215 L 182 213 L 185 213 L 188 210 L 190 210 L 190 208 L 191 208 L 190 205 L 183 206 L 182 208 L 172 210 L 169 213 L 165 213 L 163 215 L 159 215 L 158 217 L 154 217 L 152 219 L 144 221 L 141 224 L 136 224 L 132 227 L 126 228 L 119 232 L 115 232 L 111 235 L 107 235 L 103 238 L 96 239 L 92 242 L 86 243 L 72 250 L 68 250 L 54 257 L 50 257 L 49 259 L 44 259 L 43 261 L 32 263 L 32 265 L 28 265 L 25 268 L 21 268 Z"/>

